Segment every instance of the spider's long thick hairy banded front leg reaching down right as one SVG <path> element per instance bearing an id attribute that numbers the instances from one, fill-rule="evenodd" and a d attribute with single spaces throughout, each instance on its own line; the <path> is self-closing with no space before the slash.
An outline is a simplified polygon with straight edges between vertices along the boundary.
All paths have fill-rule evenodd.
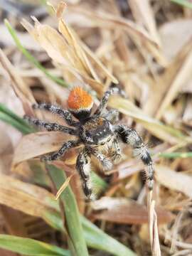
<path id="1" fill-rule="evenodd" d="M 139 156 L 139 158 L 142 159 L 143 163 L 147 166 L 147 185 L 149 190 L 152 190 L 154 183 L 154 166 L 149 151 L 142 141 L 142 138 L 139 137 L 139 134 L 137 134 L 134 129 L 128 128 L 125 125 L 118 125 L 116 129 L 122 141 L 131 145 L 134 149 L 134 155 Z"/>

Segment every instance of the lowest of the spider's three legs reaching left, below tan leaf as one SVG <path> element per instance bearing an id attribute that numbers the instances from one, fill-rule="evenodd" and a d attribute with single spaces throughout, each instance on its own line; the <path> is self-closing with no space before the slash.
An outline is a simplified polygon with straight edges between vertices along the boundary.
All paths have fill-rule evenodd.
<path id="1" fill-rule="evenodd" d="M 59 159 L 60 157 L 62 157 L 66 151 L 68 151 L 68 149 L 71 149 L 75 146 L 78 146 L 80 144 L 79 141 L 68 141 L 68 142 L 65 142 L 63 144 L 63 146 L 58 150 L 56 151 L 55 153 L 53 154 L 50 154 L 48 156 L 43 156 L 41 159 L 43 161 L 54 161 L 54 160 L 57 160 Z"/>

